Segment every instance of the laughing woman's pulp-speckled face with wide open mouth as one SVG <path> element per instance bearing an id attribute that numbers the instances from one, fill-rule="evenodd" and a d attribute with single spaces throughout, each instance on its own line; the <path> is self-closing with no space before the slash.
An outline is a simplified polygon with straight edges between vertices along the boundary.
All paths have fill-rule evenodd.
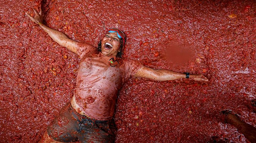
<path id="1" fill-rule="evenodd" d="M 101 53 L 105 56 L 116 56 L 121 43 L 117 32 L 107 33 L 101 40 Z"/>

